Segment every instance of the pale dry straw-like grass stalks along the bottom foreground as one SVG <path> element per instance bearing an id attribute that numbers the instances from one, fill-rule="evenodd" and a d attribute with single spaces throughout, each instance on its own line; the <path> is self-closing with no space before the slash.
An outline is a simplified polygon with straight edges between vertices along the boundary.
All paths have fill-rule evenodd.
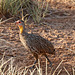
<path id="1" fill-rule="evenodd" d="M 29 67 L 31 67 L 32 65 L 25 66 L 24 68 L 23 67 L 17 68 L 17 65 L 14 66 L 13 62 L 14 62 L 14 58 L 10 58 L 9 60 L 4 61 L 4 56 L 3 56 L 3 58 L 0 60 L 0 74 L 1 75 L 27 75 L 27 74 L 43 75 L 43 70 L 41 68 L 39 60 L 38 60 L 38 66 L 35 65 L 36 67 L 33 70 L 29 69 Z M 60 68 L 62 66 L 63 62 L 64 62 L 64 60 L 62 60 L 54 70 L 53 70 L 53 68 L 51 68 L 49 75 L 56 75 L 57 70 L 58 70 L 57 75 L 60 75 L 60 73 L 62 72 L 62 69 L 65 70 L 67 75 L 70 75 L 70 73 L 64 66 L 62 68 Z M 45 75 L 48 75 L 47 59 L 46 59 L 46 67 L 45 68 L 46 68 Z M 52 70 L 53 70 L 53 73 L 52 73 Z M 73 71 L 73 75 L 75 75 L 74 68 L 72 68 L 72 71 Z"/>

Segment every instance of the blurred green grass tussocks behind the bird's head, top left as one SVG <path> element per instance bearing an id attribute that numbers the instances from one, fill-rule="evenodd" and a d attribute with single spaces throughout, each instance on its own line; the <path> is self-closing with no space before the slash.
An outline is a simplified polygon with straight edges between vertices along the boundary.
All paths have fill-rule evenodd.
<path id="1" fill-rule="evenodd" d="M 45 4 L 45 0 L 2 0 L 0 12 L 5 17 L 18 16 L 22 18 L 28 14 L 35 23 L 39 23 L 47 12 L 48 3 L 46 7 L 44 7 Z M 43 11 L 43 9 L 45 10 Z"/>

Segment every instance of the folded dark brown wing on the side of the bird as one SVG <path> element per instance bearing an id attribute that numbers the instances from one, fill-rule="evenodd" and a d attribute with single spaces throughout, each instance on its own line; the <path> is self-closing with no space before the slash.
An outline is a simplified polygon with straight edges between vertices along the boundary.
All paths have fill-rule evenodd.
<path id="1" fill-rule="evenodd" d="M 41 36 L 30 35 L 29 40 L 30 49 L 37 53 L 51 53 L 54 49 L 51 42 Z"/>

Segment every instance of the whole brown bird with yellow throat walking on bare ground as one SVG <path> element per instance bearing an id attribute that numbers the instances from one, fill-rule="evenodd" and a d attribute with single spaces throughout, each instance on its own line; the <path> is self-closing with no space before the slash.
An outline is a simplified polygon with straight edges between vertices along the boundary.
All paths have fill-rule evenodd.
<path id="1" fill-rule="evenodd" d="M 25 30 L 25 24 L 23 20 L 17 20 L 16 24 L 19 27 L 19 37 L 25 49 L 31 51 L 33 56 L 35 57 L 34 65 L 38 62 L 38 56 L 44 55 L 48 62 L 50 63 L 50 67 L 52 66 L 52 62 L 49 60 L 47 54 L 55 54 L 54 46 L 50 41 L 43 38 L 40 35 L 36 35 L 33 33 L 27 33 Z"/>

